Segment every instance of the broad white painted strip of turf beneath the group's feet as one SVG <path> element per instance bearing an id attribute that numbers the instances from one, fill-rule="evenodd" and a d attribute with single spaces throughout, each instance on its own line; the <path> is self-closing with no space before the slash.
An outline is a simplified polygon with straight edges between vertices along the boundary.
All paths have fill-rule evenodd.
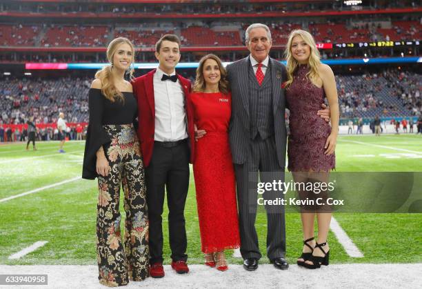
<path id="1" fill-rule="evenodd" d="M 225 272 L 189 264 L 189 269 L 188 274 L 179 275 L 170 265 L 165 265 L 165 277 L 130 281 L 124 288 L 420 288 L 422 283 L 421 263 L 330 264 L 318 270 L 290 264 L 289 269 L 283 271 L 260 263 L 254 272 L 233 264 L 229 264 Z M 98 267 L 94 265 L 0 265 L 0 274 L 48 275 L 48 285 L 28 288 L 106 288 L 99 283 Z"/>

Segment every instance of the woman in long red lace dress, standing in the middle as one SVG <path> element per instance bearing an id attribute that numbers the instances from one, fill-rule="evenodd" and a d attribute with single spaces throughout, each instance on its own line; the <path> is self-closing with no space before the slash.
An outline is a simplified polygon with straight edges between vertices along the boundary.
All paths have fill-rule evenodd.
<path id="1" fill-rule="evenodd" d="M 231 97 L 221 60 L 208 54 L 199 61 L 189 99 L 194 121 L 206 134 L 197 139 L 194 179 L 197 190 L 201 250 L 205 265 L 228 269 L 224 250 L 239 248 L 239 223 L 232 154 L 228 139 Z"/>

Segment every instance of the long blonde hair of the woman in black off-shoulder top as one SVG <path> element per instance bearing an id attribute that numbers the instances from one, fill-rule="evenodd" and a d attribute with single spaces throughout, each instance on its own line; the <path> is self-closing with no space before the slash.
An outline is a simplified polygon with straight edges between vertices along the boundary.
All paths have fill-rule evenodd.
<path id="1" fill-rule="evenodd" d="M 130 79 L 133 79 L 134 68 L 132 64 L 134 63 L 134 46 L 133 43 L 125 37 L 117 37 L 113 39 L 110 44 L 108 44 L 107 59 L 110 64 L 108 66 L 104 66 L 95 74 L 95 78 L 101 80 L 101 93 L 104 95 L 104 97 L 106 97 L 106 99 L 109 99 L 112 102 L 114 102 L 116 99 L 123 101 L 123 93 L 118 90 L 116 86 L 114 86 L 114 79 L 112 74 L 114 53 L 116 53 L 117 47 L 122 43 L 126 43 L 130 46 L 130 48 L 132 48 L 130 68 L 126 73 L 129 74 Z"/>

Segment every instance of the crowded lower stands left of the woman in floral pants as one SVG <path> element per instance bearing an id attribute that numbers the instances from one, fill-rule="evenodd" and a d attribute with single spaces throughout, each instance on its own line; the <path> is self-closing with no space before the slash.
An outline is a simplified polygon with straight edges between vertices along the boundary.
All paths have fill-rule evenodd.
<path id="1" fill-rule="evenodd" d="M 25 123 L 30 116 L 36 123 L 54 123 L 59 112 L 68 121 L 88 121 L 89 87 L 88 79 L 79 78 L 2 79 L 0 123 Z"/>

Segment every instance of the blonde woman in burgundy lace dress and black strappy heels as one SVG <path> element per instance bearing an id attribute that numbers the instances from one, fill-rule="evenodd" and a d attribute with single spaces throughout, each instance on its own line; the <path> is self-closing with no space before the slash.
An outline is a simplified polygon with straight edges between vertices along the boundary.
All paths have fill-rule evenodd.
<path id="1" fill-rule="evenodd" d="M 319 60 L 319 52 L 309 32 L 294 30 L 286 50 L 288 81 L 286 97 L 290 109 L 290 137 L 288 139 L 288 168 L 295 182 L 328 182 L 335 167 L 334 150 L 339 132 L 339 103 L 336 82 L 330 68 Z M 316 112 L 324 99 L 330 107 L 330 123 Z M 299 190 L 301 199 L 327 198 L 327 192 Z M 318 221 L 318 237 L 314 239 L 314 219 Z M 303 252 L 297 264 L 305 268 L 328 265 L 327 243 L 331 211 L 328 206 L 301 208 Z"/>

